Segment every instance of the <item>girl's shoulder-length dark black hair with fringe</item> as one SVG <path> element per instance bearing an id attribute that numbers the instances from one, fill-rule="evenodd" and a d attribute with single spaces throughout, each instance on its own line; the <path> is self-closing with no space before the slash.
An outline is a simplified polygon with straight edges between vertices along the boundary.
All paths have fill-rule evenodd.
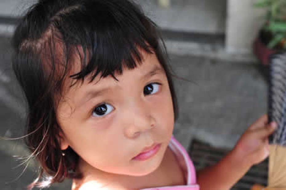
<path id="1" fill-rule="evenodd" d="M 12 43 L 13 69 L 28 106 L 25 142 L 41 165 L 30 188 L 80 177 L 75 171 L 78 155 L 68 148 L 62 156 L 58 140 L 56 110 L 67 77 L 75 81 L 114 77 L 115 72 L 122 74 L 123 66 L 132 69 L 141 63 L 140 50 L 155 53 L 165 70 L 177 118 L 164 42 L 157 25 L 131 0 L 39 0 L 22 17 Z M 70 75 L 76 54 L 81 71 Z M 49 183 L 45 175 L 51 176 Z"/>

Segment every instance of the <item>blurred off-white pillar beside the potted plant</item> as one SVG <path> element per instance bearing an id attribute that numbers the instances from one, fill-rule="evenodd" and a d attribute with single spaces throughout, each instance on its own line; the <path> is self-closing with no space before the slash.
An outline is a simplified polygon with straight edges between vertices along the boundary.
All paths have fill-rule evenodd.
<path id="1" fill-rule="evenodd" d="M 252 52 L 252 44 L 264 23 L 265 11 L 254 7 L 257 0 L 228 0 L 226 51 Z"/>

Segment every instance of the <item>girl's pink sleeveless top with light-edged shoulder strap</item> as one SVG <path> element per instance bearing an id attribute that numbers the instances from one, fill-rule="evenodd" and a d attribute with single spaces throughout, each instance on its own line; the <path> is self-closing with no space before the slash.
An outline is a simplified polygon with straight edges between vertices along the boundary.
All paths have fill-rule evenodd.
<path id="1" fill-rule="evenodd" d="M 185 176 L 187 176 L 187 184 L 179 186 L 145 188 L 141 190 L 199 190 L 199 185 L 196 182 L 195 167 L 184 147 L 174 137 L 172 137 L 169 142 L 169 148 L 177 156 L 177 160 L 183 169 Z"/>

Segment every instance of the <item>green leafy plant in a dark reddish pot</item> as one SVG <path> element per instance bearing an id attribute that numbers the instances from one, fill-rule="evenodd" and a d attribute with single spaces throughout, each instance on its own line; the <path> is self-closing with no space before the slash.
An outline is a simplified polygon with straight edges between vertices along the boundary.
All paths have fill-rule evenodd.
<path id="1" fill-rule="evenodd" d="M 286 0 L 259 0 L 254 6 L 267 11 L 254 42 L 254 54 L 268 65 L 269 56 L 286 49 Z"/>

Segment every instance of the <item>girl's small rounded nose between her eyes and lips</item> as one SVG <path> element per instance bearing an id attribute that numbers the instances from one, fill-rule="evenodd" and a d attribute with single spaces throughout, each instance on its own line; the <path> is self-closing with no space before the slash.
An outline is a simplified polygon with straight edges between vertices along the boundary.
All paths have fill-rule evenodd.
<path id="1" fill-rule="evenodd" d="M 155 127 L 155 118 L 152 115 L 152 107 L 144 100 L 129 101 L 128 108 L 124 111 L 125 129 L 127 138 L 136 138 L 140 134 Z"/>

